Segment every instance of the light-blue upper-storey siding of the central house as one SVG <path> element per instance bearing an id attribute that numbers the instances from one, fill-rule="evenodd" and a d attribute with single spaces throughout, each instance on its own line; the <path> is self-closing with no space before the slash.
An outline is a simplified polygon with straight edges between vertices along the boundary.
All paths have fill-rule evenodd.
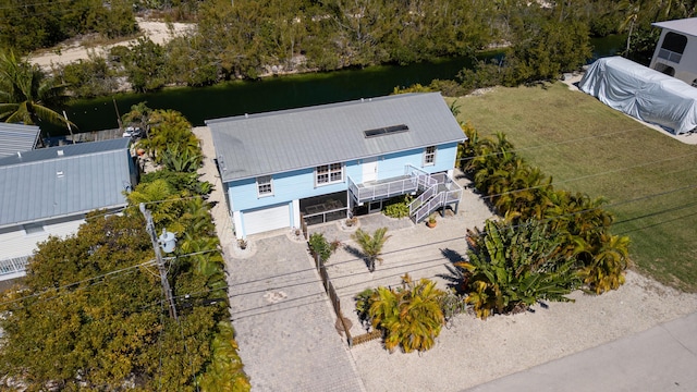
<path id="1" fill-rule="evenodd" d="M 451 143 L 438 146 L 436 164 L 424 166 L 424 149 L 386 154 L 378 157 L 378 180 L 404 175 L 405 166 L 412 164 L 429 173 L 453 169 L 457 154 L 457 144 Z M 363 182 L 363 167 L 360 160 L 346 162 L 344 166 L 344 182 L 331 185 L 315 186 L 315 169 L 302 169 L 286 173 L 273 174 L 273 195 L 259 197 L 257 195 L 256 179 L 246 179 L 228 183 L 229 194 L 234 209 L 247 210 L 253 208 L 276 206 L 281 203 L 320 196 L 329 193 L 346 191 L 346 176 L 356 183 Z"/>

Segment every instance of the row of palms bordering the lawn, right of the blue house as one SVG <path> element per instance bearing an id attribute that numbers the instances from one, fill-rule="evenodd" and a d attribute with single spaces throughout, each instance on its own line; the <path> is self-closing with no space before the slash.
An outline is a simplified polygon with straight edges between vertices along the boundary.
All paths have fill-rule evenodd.
<path id="1" fill-rule="evenodd" d="M 632 264 L 629 240 L 610 234 L 614 217 L 602 208 L 604 198 L 555 191 L 551 179 L 516 157 L 503 134 L 480 139 L 474 128 L 465 132 L 468 140 L 461 148 L 465 170 L 506 223 L 547 222 L 560 241 L 559 253 L 576 260 L 573 268 L 590 290 L 602 293 L 624 282 Z"/>

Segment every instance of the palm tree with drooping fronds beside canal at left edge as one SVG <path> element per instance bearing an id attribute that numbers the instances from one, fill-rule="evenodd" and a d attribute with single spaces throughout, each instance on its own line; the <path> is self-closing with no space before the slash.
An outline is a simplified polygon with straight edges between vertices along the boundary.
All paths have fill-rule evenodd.
<path id="1" fill-rule="evenodd" d="M 47 78 L 37 66 L 17 59 L 12 51 L 0 50 L 1 121 L 32 125 L 46 121 L 75 126 L 49 108 L 65 101 L 65 87 L 68 85 Z"/>

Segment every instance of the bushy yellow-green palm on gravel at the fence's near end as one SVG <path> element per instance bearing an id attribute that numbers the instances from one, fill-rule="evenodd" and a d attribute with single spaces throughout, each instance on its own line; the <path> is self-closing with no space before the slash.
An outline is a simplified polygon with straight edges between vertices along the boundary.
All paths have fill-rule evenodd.
<path id="1" fill-rule="evenodd" d="M 428 279 L 415 283 L 405 274 L 402 282 L 403 287 L 380 286 L 372 292 L 368 309 L 372 327 L 383 331 L 389 351 L 398 346 L 406 353 L 430 350 L 444 323 L 441 302 L 445 292 Z M 365 299 L 362 306 L 365 309 Z"/>

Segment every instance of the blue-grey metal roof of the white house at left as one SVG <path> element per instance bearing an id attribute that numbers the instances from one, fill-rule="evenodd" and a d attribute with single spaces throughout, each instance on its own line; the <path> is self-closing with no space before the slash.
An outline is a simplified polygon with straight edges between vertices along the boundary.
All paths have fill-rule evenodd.
<path id="1" fill-rule="evenodd" d="M 126 205 L 129 138 L 0 159 L 0 228 Z"/>

